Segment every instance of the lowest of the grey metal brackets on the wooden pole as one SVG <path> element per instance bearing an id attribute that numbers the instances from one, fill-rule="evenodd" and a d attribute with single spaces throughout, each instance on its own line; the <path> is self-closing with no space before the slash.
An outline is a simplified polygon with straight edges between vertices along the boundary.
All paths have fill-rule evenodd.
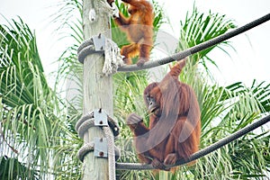
<path id="1" fill-rule="evenodd" d="M 108 157 L 107 139 L 94 137 L 94 157 Z"/>

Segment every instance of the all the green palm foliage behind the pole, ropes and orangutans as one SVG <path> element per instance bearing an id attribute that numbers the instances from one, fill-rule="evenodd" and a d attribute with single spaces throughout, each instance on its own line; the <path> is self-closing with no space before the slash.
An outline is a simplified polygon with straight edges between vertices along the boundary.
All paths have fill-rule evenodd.
<path id="1" fill-rule="evenodd" d="M 164 23 L 160 6 L 155 4 L 155 27 Z M 121 12 L 126 8 L 119 4 Z M 71 16 L 76 14 L 77 19 Z M 59 58 L 61 66 L 57 83 L 49 87 L 40 61 L 35 35 L 27 24 L 12 21 L 0 24 L 0 178 L 2 179 L 79 179 L 80 162 L 76 152 L 82 145 L 74 125 L 81 115 L 82 66 L 76 60 L 76 49 L 83 40 L 81 1 L 66 0 L 53 21 L 63 21 L 74 44 Z M 112 23 L 113 24 L 113 23 Z M 196 8 L 181 22 L 178 50 L 210 40 L 235 25 L 224 15 L 201 14 Z M 60 27 L 61 28 L 61 27 Z M 118 43 L 121 31 L 112 31 Z M 122 37 L 122 36 L 121 36 Z M 211 49 L 223 49 L 223 42 Z M 229 45 L 231 47 L 231 45 Z M 228 136 L 270 111 L 270 88 L 256 81 L 246 87 L 241 82 L 228 86 L 211 82 L 207 63 L 211 49 L 190 58 L 180 77 L 192 85 L 202 111 L 201 148 Z M 226 49 L 223 49 L 226 52 Z M 130 112 L 145 114 L 142 92 L 148 85 L 148 71 L 118 73 L 113 76 L 114 116 L 121 126 L 121 162 L 138 162 L 132 148 L 131 133 L 125 125 Z M 204 78 L 202 78 L 204 77 Z M 61 97 L 61 84 L 76 82 L 76 95 Z M 74 86 L 73 86 L 74 87 Z M 72 89 L 73 90 L 73 89 Z M 269 133 L 261 129 L 249 133 L 224 148 L 202 157 L 195 166 L 181 166 L 171 179 L 261 179 L 270 171 Z M 161 179 L 151 171 L 118 171 L 121 179 Z"/>

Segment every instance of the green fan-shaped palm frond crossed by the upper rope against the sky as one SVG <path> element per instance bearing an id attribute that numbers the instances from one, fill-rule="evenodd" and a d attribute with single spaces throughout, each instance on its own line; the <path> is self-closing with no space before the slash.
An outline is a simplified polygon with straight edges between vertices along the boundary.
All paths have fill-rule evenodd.
<path id="1" fill-rule="evenodd" d="M 192 14 L 187 13 L 185 20 L 181 21 L 180 24 L 180 39 L 176 51 L 191 48 L 206 40 L 216 38 L 229 31 L 229 29 L 236 27 L 232 21 L 226 20 L 225 15 L 212 14 L 211 12 L 209 12 L 209 14 L 199 13 L 195 6 L 193 6 Z M 216 66 L 215 61 L 211 60 L 208 54 L 216 47 L 226 52 L 226 50 L 222 48 L 224 45 L 232 48 L 232 46 L 229 45 L 229 41 L 223 41 L 216 46 L 194 54 L 193 64 L 200 61 L 202 66 L 207 70 L 208 67 L 205 60 L 208 60 L 212 65 Z"/>

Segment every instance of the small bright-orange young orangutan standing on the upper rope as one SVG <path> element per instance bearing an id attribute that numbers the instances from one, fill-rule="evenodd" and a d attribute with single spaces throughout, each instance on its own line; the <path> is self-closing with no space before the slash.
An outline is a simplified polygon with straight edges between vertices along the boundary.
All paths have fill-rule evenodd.
<path id="1" fill-rule="evenodd" d="M 114 22 L 122 31 L 127 33 L 130 45 L 121 48 L 121 55 L 125 56 L 124 62 L 132 64 L 131 58 L 139 55 L 138 66 L 148 61 L 150 50 L 153 46 L 153 7 L 146 0 L 122 0 L 130 4 L 128 9 L 130 17 L 126 18 L 119 13 Z"/>

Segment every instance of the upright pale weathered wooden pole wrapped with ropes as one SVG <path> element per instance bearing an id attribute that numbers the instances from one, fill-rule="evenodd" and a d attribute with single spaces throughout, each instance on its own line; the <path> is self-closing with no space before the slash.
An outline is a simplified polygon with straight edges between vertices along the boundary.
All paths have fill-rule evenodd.
<path id="1" fill-rule="evenodd" d="M 83 31 L 85 40 L 100 33 L 111 38 L 111 32 L 109 32 L 110 18 L 99 7 L 100 1 L 103 0 L 83 1 Z M 96 15 L 92 22 L 89 20 L 90 10 L 92 12 L 94 10 Z M 85 58 L 83 79 L 84 113 L 102 108 L 108 115 L 112 116 L 112 76 L 103 76 L 103 62 L 103 54 L 94 53 Z M 94 137 L 103 137 L 103 131 L 98 127 L 90 128 L 85 133 L 84 141 L 92 141 Z M 108 159 L 94 157 L 93 152 L 88 153 L 84 159 L 83 179 L 109 179 Z"/>

